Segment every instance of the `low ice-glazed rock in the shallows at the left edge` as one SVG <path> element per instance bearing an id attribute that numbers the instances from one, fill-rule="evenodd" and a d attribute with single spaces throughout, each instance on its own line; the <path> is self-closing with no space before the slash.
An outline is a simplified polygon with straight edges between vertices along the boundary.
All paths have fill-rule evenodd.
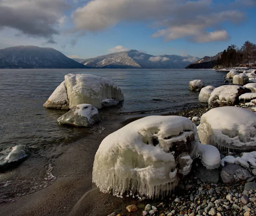
<path id="1" fill-rule="evenodd" d="M 25 145 L 4 149 L 0 152 L 0 171 L 5 170 L 10 163 L 20 162 L 28 156 L 29 151 Z"/>

